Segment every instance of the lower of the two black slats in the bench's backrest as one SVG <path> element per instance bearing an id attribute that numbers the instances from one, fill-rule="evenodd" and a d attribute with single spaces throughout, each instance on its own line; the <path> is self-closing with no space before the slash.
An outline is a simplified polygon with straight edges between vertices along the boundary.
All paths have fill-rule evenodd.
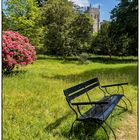
<path id="1" fill-rule="evenodd" d="M 86 93 L 87 91 L 89 91 L 89 90 L 91 90 L 91 89 L 93 89 L 93 88 L 95 88 L 95 87 L 97 87 L 97 86 L 99 86 L 99 83 L 95 83 L 95 84 L 93 84 L 93 85 L 91 85 L 91 86 L 88 86 L 88 87 L 86 87 L 85 89 L 80 90 L 80 91 L 78 91 L 78 92 L 76 92 L 76 93 L 70 95 L 69 97 L 67 97 L 67 99 L 68 99 L 68 101 L 71 101 L 71 100 L 73 100 L 74 98 L 76 98 L 76 97 L 78 97 L 78 96 L 80 96 L 80 95 Z"/>

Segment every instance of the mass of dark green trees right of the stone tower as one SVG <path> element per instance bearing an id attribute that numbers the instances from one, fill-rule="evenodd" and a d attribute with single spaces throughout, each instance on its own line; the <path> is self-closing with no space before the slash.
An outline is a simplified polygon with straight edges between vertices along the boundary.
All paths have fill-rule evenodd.
<path id="1" fill-rule="evenodd" d="M 120 0 L 111 12 L 111 22 L 104 22 L 93 37 L 91 50 L 95 54 L 137 55 L 138 6 L 137 0 Z"/>

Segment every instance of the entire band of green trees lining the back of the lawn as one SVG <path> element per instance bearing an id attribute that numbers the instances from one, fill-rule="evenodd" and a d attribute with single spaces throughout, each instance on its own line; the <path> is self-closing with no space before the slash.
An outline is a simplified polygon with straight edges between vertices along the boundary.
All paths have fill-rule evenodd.
<path id="1" fill-rule="evenodd" d="M 138 1 L 120 0 L 111 21 L 93 33 L 91 17 L 68 0 L 8 0 L 2 11 L 2 30 L 27 36 L 37 53 L 67 57 L 82 52 L 136 56 Z"/>

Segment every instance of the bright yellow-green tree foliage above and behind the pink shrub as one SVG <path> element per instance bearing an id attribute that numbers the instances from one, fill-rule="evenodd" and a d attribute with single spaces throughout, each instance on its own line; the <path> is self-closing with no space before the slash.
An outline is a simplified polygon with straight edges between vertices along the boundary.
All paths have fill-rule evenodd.
<path id="1" fill-rule="evenodd" d="M 39 24 L 41 12 L 37 7 L 37 2 L 35 0 L 8 0 L 6 6 L 8 29 L 27 36 L 34 46 L 39 47 L 43 28 Z"/>

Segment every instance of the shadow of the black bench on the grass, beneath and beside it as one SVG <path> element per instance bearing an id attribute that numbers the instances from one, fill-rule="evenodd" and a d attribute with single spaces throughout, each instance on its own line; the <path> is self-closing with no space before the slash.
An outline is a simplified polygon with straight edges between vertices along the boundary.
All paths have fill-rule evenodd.
<path id="1" fill-rule="evenodd" d="M 126 112 L 126 110 L 118 109 L 117 111 L 114 111 L 112 118 L 116 118 L 118 115 L 121 115 L 122 113 Z M 57 119 L 55 122 L 50 123 L 48 126 L 45 127 L 44 131 L 53 133 L 53 130 L 58 128 L 64 121 L 67 121 L 68 118 L 72 115 L 70 112 L 66 113 L 64 116 Z M 108 119 L 110 119 L 109 117 Z M 103 126 L 104 124 L 101 123 Z M 67 126 L 66 126 L 67 127 Z M 70 130 L 71 124 L 69 125 Z M 110 130 L 104 126 L 107 130 L 108 135 L 110 134 Z M 106 133 L 102 129 L 100 125 L 93 121 L 86 121 L 86 122 L 76 122 L 73 127 L 72 135 L 69 135 L 69 130 L 63 129 L 60 134 L 58 135 L 63 136 L 67 139 L 72 140 L 107 140 Z"/>

